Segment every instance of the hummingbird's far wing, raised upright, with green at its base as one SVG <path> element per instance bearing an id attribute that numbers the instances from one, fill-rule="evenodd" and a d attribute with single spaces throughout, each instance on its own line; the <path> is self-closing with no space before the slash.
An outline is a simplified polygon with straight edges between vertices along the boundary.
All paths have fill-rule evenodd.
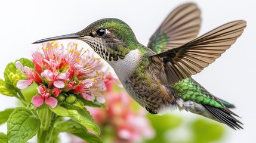
<path id="1" fill-rule="evenodd" d="M 147 47 L 160 53 L 196 38 L 201 24 L 200 14 L 192 3 L 175 8 L 152 35 Z"/>

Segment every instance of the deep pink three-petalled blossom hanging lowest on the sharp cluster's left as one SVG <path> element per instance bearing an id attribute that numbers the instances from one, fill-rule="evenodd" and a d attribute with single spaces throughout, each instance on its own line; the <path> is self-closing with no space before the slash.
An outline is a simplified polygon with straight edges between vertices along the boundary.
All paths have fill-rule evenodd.
<path id="1" fill-rule="evenodd" d="M 38 87 L 38 93 L 40 95 L 35 95 L 31 101 L 36 107 L 40 107 L 44 101 L 47 105 L 50 105 L 51 108 L 54 108 L 57 105 L 58 101 L 51 97 L 50 89 L 46 89 L 45 86 L 41 85 Z"/>

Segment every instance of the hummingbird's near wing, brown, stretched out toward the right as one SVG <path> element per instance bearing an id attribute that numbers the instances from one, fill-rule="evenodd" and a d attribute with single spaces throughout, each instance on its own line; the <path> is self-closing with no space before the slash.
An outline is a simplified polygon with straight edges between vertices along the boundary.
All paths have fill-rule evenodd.
<path id="1" fill-rule="evenodd" d="M 178 48 L 150 56 L 149 71 L 164 85 L 172 85 L 199 73 L 220 57 L 243 33 L 246 21 L 233 21 Z"/>

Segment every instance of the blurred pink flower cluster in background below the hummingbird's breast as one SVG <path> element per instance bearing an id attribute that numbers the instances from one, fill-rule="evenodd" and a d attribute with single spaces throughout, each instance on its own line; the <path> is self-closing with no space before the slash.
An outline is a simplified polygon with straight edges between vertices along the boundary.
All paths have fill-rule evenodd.
<path id="1" fill-rule="evenodd" d="M 146 111 L 143 108 L 134 110 L 132 108 L 132 105 L 136 104 L 134 100 L 124 91 L 113 90 L 113 82 L 116 81 L 112 76 L 107 76 L 107 79 L 110 80 L 105 82 L 107 87 L 105 104 L 109 109 L 87 107 L 97 125 L 100 125 L 103 132 L 106 128 L 112 129 L 112 136 L 116 135 L 113 142 L 153 138 L 155 131 L 146 118 Z"/>

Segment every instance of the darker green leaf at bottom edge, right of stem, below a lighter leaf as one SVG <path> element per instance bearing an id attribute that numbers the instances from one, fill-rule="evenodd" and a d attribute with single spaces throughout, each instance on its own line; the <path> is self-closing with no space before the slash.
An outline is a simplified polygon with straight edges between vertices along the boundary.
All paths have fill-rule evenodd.
<path id="1" fill-rule="evenodd" d="M 102 142 L 97 135 L 88 132 L 88 130 L 84 128 L 84 126 L 73 120 L 55 123 L 54 131 L 72 133 L 73 135 L 78 136 L 79 138 L 91 143 Z"/>

